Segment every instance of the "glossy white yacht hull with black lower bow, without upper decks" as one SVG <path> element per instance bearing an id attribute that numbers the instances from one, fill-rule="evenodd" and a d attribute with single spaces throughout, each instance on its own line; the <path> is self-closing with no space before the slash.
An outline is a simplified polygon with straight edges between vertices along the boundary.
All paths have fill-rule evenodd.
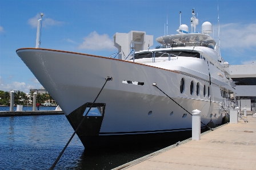
<path id="1" fill-rule="evenodd" d="M 154 82 L 190 113 L 201 110 L 203 123 L 222 122 L 218 86 L 197 77 L 129 61 L 50 49 L 18 49 L 17 54 L 58 102 L 74 129 L 85 116 L 88 103 L 97 97 L 105 78 L 113 77 L 96 101 L 104 105 L 104 113 L 86 116 L 77 131 L 85 147 L 191 135 L 191 115 L 153 86 Z M 182 93 L 181 78 L 185 78 Z M 210 86 L 211 97 L 203 96 L 202 87 L 199 96 L 195 92 L 191 95 L 191 81 Z"/>

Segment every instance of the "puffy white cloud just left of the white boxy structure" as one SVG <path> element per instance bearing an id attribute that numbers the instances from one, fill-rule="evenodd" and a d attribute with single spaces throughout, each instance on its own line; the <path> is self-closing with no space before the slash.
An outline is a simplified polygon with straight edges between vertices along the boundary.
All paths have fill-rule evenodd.
<path id="1" fill-rule="evenodd" d="M 79 45 L 79 49 L 91 50 L 113 50 L 115 49 L 112 39 L 109 35 L 99 35 L 96 31 L 91 32 L 88 36 L 83 38 L 83 43 Z"/>

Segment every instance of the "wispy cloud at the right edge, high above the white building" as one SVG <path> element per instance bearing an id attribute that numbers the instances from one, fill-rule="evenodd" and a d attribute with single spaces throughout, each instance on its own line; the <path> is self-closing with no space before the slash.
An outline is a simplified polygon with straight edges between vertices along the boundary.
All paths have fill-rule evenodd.
<path id="1" fill-rule="evenodd" d="M 221 26 L 221 48 L 238 50 L 256 47 L 256 24 L 229 23 Z"/>

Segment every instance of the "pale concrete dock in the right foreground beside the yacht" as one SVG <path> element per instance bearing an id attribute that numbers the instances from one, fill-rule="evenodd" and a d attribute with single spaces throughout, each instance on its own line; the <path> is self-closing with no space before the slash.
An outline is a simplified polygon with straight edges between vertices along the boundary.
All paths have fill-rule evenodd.
<path id="1" fill-rule="evenodd" d="M 121 165 L 121 169 L 256 169 L 256 117 L 226 124 Z"/>

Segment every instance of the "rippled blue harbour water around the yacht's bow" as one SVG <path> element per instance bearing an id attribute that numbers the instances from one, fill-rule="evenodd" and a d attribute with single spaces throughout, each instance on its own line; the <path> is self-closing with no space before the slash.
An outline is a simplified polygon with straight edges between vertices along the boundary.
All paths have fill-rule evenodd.
<path id="1" fill-rule="evenodd" d="M 73 132 L 65 115 L 0 117 L 0 169 L 49 169 Z M 75 135 L 55 169 L 112 169 L 175 142 L 87 151 Z"/>

